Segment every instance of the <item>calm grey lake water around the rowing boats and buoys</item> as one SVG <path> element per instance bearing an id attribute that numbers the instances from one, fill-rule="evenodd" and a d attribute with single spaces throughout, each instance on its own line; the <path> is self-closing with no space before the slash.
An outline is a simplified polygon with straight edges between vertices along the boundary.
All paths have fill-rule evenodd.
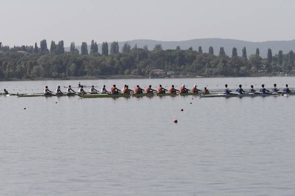
<path id="1" fill-rule="evenodd" d="M 0 89 L 39 93 L 46 85 L 54 90 L 78 82 L 10 81 L 0 82 Z M 184 83 L 209 90 L 228 83 L 235 90 L 238 84 L 245 89 L 262 83 L 295 87 L 295 77 L 81 83 L 108 89 Z M 295 195 L 295 96 L 0 96 L 0 108 L 3 196 Z"/>

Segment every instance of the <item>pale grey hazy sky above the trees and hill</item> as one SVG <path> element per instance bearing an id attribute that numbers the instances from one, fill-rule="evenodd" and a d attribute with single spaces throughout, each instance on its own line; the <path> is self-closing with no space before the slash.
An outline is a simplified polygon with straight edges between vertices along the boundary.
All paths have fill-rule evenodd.
<path id="1" fill-rule="evenodd" d="M 295 0 L 0 0 L 0 42 L 295 39 Z"/>

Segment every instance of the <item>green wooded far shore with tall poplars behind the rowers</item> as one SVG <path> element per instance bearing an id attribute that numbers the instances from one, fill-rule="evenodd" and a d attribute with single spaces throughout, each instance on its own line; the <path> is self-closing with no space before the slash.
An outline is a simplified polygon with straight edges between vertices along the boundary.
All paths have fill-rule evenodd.
<path id="1" fill-rule="evenodd" d="M 94 40 L 81 44 L 81 52 L 75 43 L 70 51 L 65 51 L 63 41 L 42 40 L 38 46 L 14 46 L 10 48 L 0 43 L 0 80 L 42 79 L 42 78 L 107 78 L 108 76 L 138 77 L 179 77 L 179 76 L 263 76 L 294 74 L 295 54 L 280 50 L 272 54 L 267 51 L 267 58 L 262 58 L 259 49 L 256 54 L 247 55 L 232 49 L 232 54 L 225 53 L 224 48 L 207 52 L 202 46 L 198 49 L 167 49 L 160 44 L 148 49 L 147 46 L 131 47 L 127 42 L 119 50 L 118 42 L 104 42 L 98 52 Z M 238 53 L 241 52 L 241 56 Z"/>

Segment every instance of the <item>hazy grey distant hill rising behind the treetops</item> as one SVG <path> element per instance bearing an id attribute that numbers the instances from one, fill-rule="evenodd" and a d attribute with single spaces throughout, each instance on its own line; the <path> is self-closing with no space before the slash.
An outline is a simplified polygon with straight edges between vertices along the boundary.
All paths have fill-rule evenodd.
<path id="1" fill-rule="evenodd" d="M 220 38 L 207 38 L 207 39 L 193 39 L 186 41 L 156 41 L 156 40 L 131 40 L 119 42 L 119 48 L 121 49 L 125 42 L 133 47 L 137 44 L 138 48 L 143 48 L 145 45 L 148 46 L 149 50 L 152 50 L 156 44 L 161 44 L 163 49 L 176 49 L 180 46 L 181 49 L 188 49 L 193 47 L 194 50 L 198 50 L 199 46 L 202 46 L 203 52 L 208 52 L 208 48 L 212 46 L 214 48 L 214 54 L 219 54 L 220 47 L 224 47 L 227 55 L 232 55 L 233 47 L 236 47 L 239 56 L 242 54 L 242 48 L 246 47 L 247 55 L 255 54 L 256 48 L 260 49 L 260 55 L 266 57 L 267 49 L 272 50 L 272 54 L 275 55 L 279 50 L 283 50 L 283 53 L 288 53 L 290 50 L 295 51 L 295 40 L 290 41 L 266 41 L 266 42 L 248 42 L 234 39 L 220 39 Z M 90 43 L 88 43 L 90 51 Z M 77 49 L 81 49 L 81 46 L 77 46 Z M 109 43 L 110 49 L 110 43 Z M 69 48 L 65 48 L 69 51 Z M 98 51 L 101 52 L 101 44 L 98 44 Z"/>

